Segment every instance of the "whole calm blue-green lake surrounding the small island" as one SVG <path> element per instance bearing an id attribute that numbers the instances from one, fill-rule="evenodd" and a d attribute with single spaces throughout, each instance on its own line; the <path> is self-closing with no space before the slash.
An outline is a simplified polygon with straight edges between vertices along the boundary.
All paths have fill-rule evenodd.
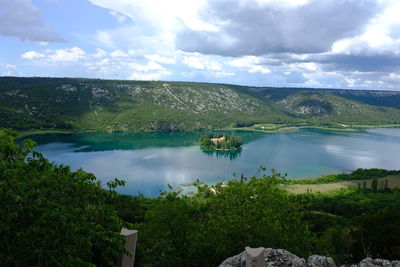
<path id="1" fill-rule="evenodd" d="M 301 129 L 296 133 L 237 131 L 241 151 L 206 153 L 198 140 L 202 132 L 81 133 L 29 136 L 36 150 L 50 161 L 83 168 L 104 183 L 127 182 L 123 194 L 157 196 L 168 184 L 180 187 L 195 179 L 213 184 L 243 174 L 250 177 L 260 165 L 287 173 L 289 178 L 314 178 L 357 168 L 400 168 L 400 129 L 362 132 Z M 189 188 L 185 187 L 184 188 Z"/>

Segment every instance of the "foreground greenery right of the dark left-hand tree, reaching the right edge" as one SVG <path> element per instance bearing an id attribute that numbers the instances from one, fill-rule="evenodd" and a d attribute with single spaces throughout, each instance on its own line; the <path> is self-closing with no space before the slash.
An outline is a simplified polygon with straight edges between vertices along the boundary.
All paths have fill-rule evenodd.
<path id="1" fill-rule="evenodd" d="M 193 197 L 120 196 L 114 206 L 139 229 L 137 262 L 144 266 L 215 266 L 245 246 L 329 255 L 340 264 L 400 259 L 400 190 L 294 195 L 279 186 L 284 182 L 273 172 L 199 186 Z"/>

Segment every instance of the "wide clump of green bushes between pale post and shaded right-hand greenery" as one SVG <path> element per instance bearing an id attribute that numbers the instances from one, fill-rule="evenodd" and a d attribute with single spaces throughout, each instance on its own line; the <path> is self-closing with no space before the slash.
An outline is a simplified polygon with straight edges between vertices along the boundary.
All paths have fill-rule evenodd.
<path id="1" fill-rule="evenodd" d="M 137 263 L 144 266 L 216 266 L 244 246 L 285 248 L 298 255 L 326 252 L 302 220 L 301 206 L 280 189 L 278 174 L 247 182 L 199 187 L 148 202 L 135 225 Z"/>

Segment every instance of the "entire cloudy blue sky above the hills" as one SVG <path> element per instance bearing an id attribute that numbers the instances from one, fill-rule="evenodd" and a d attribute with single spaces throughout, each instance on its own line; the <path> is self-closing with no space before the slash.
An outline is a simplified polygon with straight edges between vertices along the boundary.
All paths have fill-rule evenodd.
<path id="1" fill-rule="evenodd" d="M 400 90 L 399 0 L 0 0 L 0 76 Z"/>

